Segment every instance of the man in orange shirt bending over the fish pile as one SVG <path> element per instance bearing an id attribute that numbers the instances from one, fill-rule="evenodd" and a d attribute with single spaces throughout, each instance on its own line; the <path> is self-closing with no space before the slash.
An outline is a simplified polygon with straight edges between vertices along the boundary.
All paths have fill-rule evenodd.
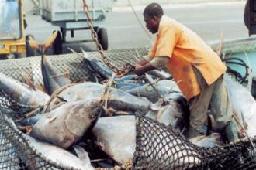
<path id="1" fill-rule="evenodd" d="M 229 93 L 223 81 L 226 66 L 220 57 L 195 32 L 164 15 L 157 3 L 144 9 L 144 21 L 150 32 L 157 33 L 157 38 L 149 55 L 137 63 L 134 72 L 141 75 L 167 67 L 189 101 L 187 138 L 202 135 L 210 106 L 211 114 L 218 128 L 226 133 L 227 140 L 237 140 Z"/>

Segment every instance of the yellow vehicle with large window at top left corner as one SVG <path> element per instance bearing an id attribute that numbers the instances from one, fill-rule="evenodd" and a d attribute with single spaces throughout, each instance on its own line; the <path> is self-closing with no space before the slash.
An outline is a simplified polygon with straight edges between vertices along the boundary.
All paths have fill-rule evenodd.
<path id="1" fill-rule="evenodd" d="M 24 22 L 22 0 L 0 0 L 0 59 L 25 56 Z"/>

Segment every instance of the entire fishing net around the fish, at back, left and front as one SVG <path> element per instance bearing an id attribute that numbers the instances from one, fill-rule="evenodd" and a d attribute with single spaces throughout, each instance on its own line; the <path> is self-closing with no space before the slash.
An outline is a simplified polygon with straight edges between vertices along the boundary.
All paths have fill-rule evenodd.
<path id="1" fill-rule="evenodd" d="M 135 63 L 147 49 L 119 49 L 106 52 L 114 66 Z M 100 59 L 99 53 L 90 56 Z M 81 56 L 67 54 L 48 56 L 62 73 L 69 71 L 71 81 L 95 81 L 95 73 Z M 0 71 L 26 83 L 28 75 L 36 86 L 42 86 L 40 57 L 0 61 Z M 0 87 L 0 169 L 74 169 L 50 161 L 31 145 L 19 127 L 20 119 L 40 114 L 43 107 L 31 107 L 12 100 Z M 252 140 L 256 143 L 255 140 Z M 176 133 L 147 117 L 137 115 L 137 148 L 133 158 L 135 169 L 256 169 L 254 149 L 250 141 L 217 148 L 199 148 Z"/>

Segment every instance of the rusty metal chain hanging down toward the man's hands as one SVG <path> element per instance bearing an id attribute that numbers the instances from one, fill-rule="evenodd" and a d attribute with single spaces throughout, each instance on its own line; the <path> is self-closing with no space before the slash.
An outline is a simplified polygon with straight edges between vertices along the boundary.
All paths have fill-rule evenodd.
<path id="1" fill-rule="evenodd" d="M 100 55 L 102 56 L 103 62 L 106 64 L 106 66 L 109 66 L 109 68 L 113 72 L 115 72 L 117 74 L 117 76 L 123 76 L 126 73 L 129 73 L 130 70 L 134 69 L 134 66 L 132 66 L 130 63 L 126 63 L 126 66 L 124 66 L 122 70 L 119 70 L 116 66 L 113 66 L 110 63 L 109 59 L 104 54 L 103 49 L 102 49 L 102 45 L 99 43 L 99 40 L 98 40 L 98 35 L 95 32 L 95 30 L 93 29 L 93 23 L 92 23 L 92 19 L 91 19 L 90 15 L 89 15 L 88 4 L 87 4 L 86 0 L 83 0 L 83 2 L 84 2 L 84 12 L 85 12 L 85 15 L 87 17 L 87 23 L 88 23 L 89 29 L 91 29 L 92 39 L 95 41 L 95 44 L 97 46 L 97 50 L 100 53 Z"/>

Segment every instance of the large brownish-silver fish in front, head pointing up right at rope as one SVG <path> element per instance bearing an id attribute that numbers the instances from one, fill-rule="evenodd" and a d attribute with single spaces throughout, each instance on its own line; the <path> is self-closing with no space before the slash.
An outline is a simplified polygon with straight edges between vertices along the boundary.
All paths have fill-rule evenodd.
<path id="1" fill-rule="evenodd" d="M 33 126 L 31 135 L 61 148 L 70 147 L 98 120 L 102 112 L 99 100 L 92 98 L 74 101 L 43 114 Z"/>

